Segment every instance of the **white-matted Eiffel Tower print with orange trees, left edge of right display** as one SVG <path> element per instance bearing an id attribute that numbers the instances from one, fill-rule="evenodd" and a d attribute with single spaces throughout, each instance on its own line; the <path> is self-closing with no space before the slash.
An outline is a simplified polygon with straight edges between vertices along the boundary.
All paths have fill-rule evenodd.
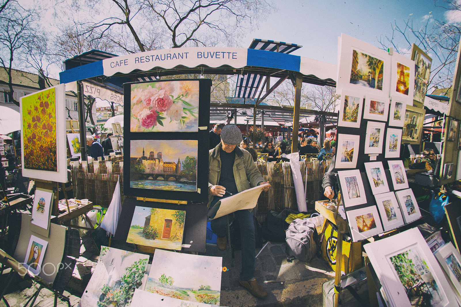
<path id="1" fill-rule="evenodd" d="M 335 168 L 355 168 L 360 146 L 360 135 L 341 134 L 337 136 Z"/>

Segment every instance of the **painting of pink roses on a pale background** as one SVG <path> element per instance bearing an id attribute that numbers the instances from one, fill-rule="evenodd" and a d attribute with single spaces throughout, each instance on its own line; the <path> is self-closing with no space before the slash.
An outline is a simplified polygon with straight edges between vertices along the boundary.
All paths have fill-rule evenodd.
<path id="1" fill-rule="evenodd" d="M 131 84 L 131 132 L 197 132 L 199 81 Z"/>

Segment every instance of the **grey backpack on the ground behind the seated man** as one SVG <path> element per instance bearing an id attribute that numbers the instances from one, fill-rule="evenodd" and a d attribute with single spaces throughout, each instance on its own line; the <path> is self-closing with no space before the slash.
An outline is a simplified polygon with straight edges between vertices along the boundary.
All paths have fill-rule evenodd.
<path id="1" fill-rule="evenodd" d="M 315 224 L 307 220 L 296 219 L 285 231 L 287 243 L 286 253 L 301 261 L 311 261 L 317 253 L 317 229 Z"/>

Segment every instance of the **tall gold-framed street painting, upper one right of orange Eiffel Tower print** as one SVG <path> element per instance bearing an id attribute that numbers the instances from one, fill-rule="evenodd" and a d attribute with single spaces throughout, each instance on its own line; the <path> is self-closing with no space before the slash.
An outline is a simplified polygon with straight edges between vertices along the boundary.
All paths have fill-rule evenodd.
<path id="1" fill-rule="evenodd" d="M 414 60 L 414 94 L 413 100 L 422 108 L 426 98 L 427 85 L 431 75 L 432 58 L 415 44 L 411 46 L 411 59 Z"/>

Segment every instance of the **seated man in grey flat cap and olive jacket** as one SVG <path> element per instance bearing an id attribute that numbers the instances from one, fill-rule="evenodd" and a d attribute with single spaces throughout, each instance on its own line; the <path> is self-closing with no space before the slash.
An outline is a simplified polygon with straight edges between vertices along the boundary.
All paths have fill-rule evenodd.
<path id="1" fill-rule="evenodd" d="M 266 182 L 253 162 L 248 151 L 238 145 L 242 142 L 242 133 L 235 125 L 226 125 L 221 132 L 221 142 L 209 152 L 208 208 L 212 208 L 223 197 L 264 185 Z M 267 185 L 263 191 L 268 191 Z M 254 278 L 255 238 L 254 222 L 251 210 L 234 212 L 234 219 L 240 226 L 242 239 L 242 268 L 240 284 L 256 297 L 265 297 L 266 290 Z M 218 249 L 227 246 L 227 216 L 211 221 L 211 229 L 218 236 Z"/>

